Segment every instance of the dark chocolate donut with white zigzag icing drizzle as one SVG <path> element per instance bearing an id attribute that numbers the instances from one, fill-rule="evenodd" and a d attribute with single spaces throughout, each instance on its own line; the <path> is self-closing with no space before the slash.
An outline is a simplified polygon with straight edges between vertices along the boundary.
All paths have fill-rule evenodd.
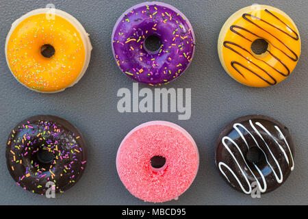
<path id="1" fill-rule="evenodd" d="M 251 194 L 256 186 L 264 193 L 278 188 L 294 169 L 293 153 L 287 127 L 268 116 L 249 115 L 224 127 L 214 156 L 224 181 Z"/>

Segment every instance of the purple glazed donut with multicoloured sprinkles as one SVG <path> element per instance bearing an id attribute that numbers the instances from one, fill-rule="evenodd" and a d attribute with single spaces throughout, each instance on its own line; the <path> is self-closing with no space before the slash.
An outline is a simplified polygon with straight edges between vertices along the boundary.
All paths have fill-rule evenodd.
<path id="1" fill-rule="evenodd" d="M 155 51 L 144 46 L 149 37 L 158 38 Z M 188 18 L 171 5 L 155 1 L 127 10 L 112 32 L 112 51 L 120 69 L 151 86 L 179 77 L 192 61 L 194 45 Z"/>

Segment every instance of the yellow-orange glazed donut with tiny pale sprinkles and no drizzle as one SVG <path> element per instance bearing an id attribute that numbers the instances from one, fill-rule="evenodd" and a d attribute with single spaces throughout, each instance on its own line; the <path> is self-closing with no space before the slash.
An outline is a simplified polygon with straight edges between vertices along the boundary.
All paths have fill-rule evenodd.
<path id="1" fill-rule="evenodd" d="M 42 8 L 16 20 L 5 42 L 14 77 L 37 92 L 60 92 L 86 72 L 92 46 L 86 30 L 62 10 Z"/>

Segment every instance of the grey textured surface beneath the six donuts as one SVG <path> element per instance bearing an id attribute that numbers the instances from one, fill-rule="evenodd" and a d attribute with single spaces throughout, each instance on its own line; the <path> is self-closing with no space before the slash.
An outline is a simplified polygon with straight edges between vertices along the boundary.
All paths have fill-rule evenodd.
<path id="1" fill-rule="evenodd" d="M 166 1 L 185 14 L 196 34 L 196 53 L 190 68 L 167 88 L 192 88 L 192 117 L 177 120 L 177 114 L 120 114 L 116 105 L 119 88 L 132 88 L 132 81 L 120 72 L 110 38 L 118 17 L 142 1 L 12 1 L 0 0 L 0 204 L 4 205 L 143 205 L 123 186 L 116 172 L 116 151 L 125 135 L 149 120 L 168 120 L 186 129 L 198 145 L 200 168 L 190 189 L 170 201 L 171 205 L 271 205 L 308 201 L 308 3 L 300 1 Z M 47 3 L 55 4 L 77 18 L 94 47 L 86 75 L 73 88 L 58 94 L 40 94 L 21 86 L 5 62 L 4 44 L 10 25 L 23 14 Z M 302 54 L 294 73 L 271 88 L 248 88 L 224 72 L 217 53 L 217 39 L 224 21 L 236 10 L 252 3 L 264 3 L 285 11 L 296 23 L 302 40 Z M 139 88 L 147 86 L 140 85 Z M 55 199 L 24 191 L 7 170 L 5 144 L 12 128 L 36 114 L 54 114 L 70 120 L 88 142 L 88 166 L 73 188 Z M 281 188 L 253 199 L 233 190 L 214 166 L 214 143 L 229 121 L 246 114 L 272 116 L 290 128 L 296 146 L 295 169 Z"/>

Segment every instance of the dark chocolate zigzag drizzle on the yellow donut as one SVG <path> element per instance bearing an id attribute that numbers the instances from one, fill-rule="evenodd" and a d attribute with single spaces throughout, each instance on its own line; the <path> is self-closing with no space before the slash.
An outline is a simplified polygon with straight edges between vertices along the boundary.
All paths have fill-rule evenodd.
<path id="1" fill-rule="evenodd" d="M 254 18 L 258 21 L 262 21 L 264 23 L 266 23 L 267 25 L 270 25 L 271 27 L 274 27 L 275 29 L 281 31 L 283 34 L 286 34 L 287 36 L 290 36 L 292 39 L 294 40 L 299 40 L 299 36 L 296 33 L 296 31 L 294 31 L 294 29 L 292 29 L 289 25 L 287 25 L 286 23 L 284 23 L 283 21 L 281 21 L 280 18 L 278 18 L 277 16 L 275 16 L 274 14 L 272 14 L 270 11 L 265 10 L 265 12 L 267 12 L 268 14 L 272 15 L 274 18 L 276 18 L 277 20 L 279 20 L 281 23 L 283 23 L 283 25 L 285 25 L 285 27 L 287 27 L 287 29 L 290 29 L 290 31 L 292 31 L 295 34 L 295 37 L 292 36 L 291 34 L 288 34 L 287 32 L 283 31 L 283 29 L 279 29 L 278 27 L 272 25 L 271 23 L 269 23 L 268 21 L 264 21 L 264 19 L 258 18 L 257 16 L 253 16 L 252 14 L 243 14 L 242 18 L 244 18 L 246 21 L 248 21 L 249 23 L 252 23 L 253 25 L 255 25 L 256 27 L 258 27 L 259 29 L 266 31 L 266 33 L 270 34 L 270 36 L 274 37 L 276 40 L 278 40 L 279 42 L 281 42 L 281 44 L 283 44 L 283 47 L 287 48 L 288 51 L 290 51 L 294 57 L 292 57 L 291 55 L 285 53 L 285 51 L 283 51 L 282 49 L 280 49 L 279 47 L 275 46 L 274 44 L 272 44 L 269 40 L 267 40 L 268 44 L 270 44 L 272 47 L 278 49 L 279 51 L 281 51 L 281 53 L 283 53 L 284 55 L 286 55 L 288 58 L 290 58 L 290 60 L 297 62 L 298 61 L 298 55 L 296 55 L 296 53 L 294 51 L 292 51 L 292 49 L 290 49 L 290 47 L 287 47 L 287 44 L 285 44 L 284 42 L 282 42 L 281 40 L 279 40 L 279 38 L 277 38 L 277 36 L 274 36 L 273 34 L 271 34 L 269 31 L 267 31 L 266 29 L 260 27 L 259 25 L 257 25 L 257 23 L 251 21 L 248 17 Z M 243 34 L 240 34 L 240 32 L 238 32 L 236 29 L 242 29 L 243 31 L 246 31 L 248 34 L 252 34 L 253 36 L 257 36 L 257 38 L 261 38 L 261 36 L 253 33 L 253 31 L 250 31 L 244 27 L 240 27 L 238 25 L 231 25 L 230 30 L 233 31 L 233 33 L 238 34 L 238 36 L 241 36 L 242 38 L 244 38 L 245 40 L 248 40 L 249 42 L 253 42 L 253 40 L 249 39 L 248 37 L 244 36 Z M 234 48 L 232 48 L 231 45 L 238 47 L 239 50 L 236 50 Z M 231 51 L 238 53 L 238 55 L 244 57 L 245 60 L 247 60 L 248 62 L 250 62 L 251 64 L 257 66 L 257 68 L 259 68 L 261 71 L 263 71 L 264 73 L 266 73 L 266 75 L 268 75 L 270 77 L 270 79 L 272 80 L 268 80 L 265 79 L 264 77 L 261 77 L 261 75 L 259 75 L 258 73 L 255 73 L 255 71 L 251 70 L 250 68 L 244 66 L 244 64 L 241 64 L 240 62 L 236 62 L 236 61 L 232 61 L 231 62 L 231 66 L 240 74 L 242 75 L 242 77 L 244 77 L 244 74 L 242 74 L 240 72 L 240 70 L 238 68 L 235 67 L 235 64 L 238 66 L 241 66 L 242 68 L 245 68 L 246 70 L 249 70 L 251 73 L 253 73 L 254 75 L 256 75 L 257 77 L 259 77 L 260 79 L 262 79 L 263 81 L 266 81 L 266 83 L 268 83 L 269 85 L 275 85 L 277 84 L 277 80 L 274 79 L 274 77 L 272 77 L 272 75 L 270 75 L 270 73 L 265 70 L 264 68 L 261 68 L 261 66 L 258 66 L 257 64 L 255 64 L 254 62 L 252 62 L 251 60 L 249 60 L 245 55 L 243 55 L 242 53 L 240 53 L 240 50 L 244 50 L 245 52 L 249 53 L 250 55 L 252 55 L 253 57 L 255 57 L 253 55 L 253 53 L 251 53 L 251 51 L 248 51 L 246 49 L 244 49 L 242 46 L 240 46 L 240 44 L 237 44 L 235 42 L 231 42 L 231 41 L 224 41 L 223 42 L 224 47 L 226 47 L 227 49 L 230 49 Z M 277 71 L 277 73 L 283 75 L 283 77 L 287 77 L 290 75 L 290 69 L 287 67 L 287 65 L 285 63 L 283 63 L 283 61 L 281 59 L 279 59 L 279 57 L 275 56 L 274 54 L 272 54 L 268 49 L 266 49 L 266 51 L 272 55 L 272 57 L 274 57 L 275 60 L 277 60 L 278 62 L 280 62 L 283 67 L 285 68 L 285 70 L 287 70 L 287 73 L 283 73 L 281 72 L 281 70 L 274 68 L 274 66 L 271 66 L 270 64 L 268 64 L 267 62 L 265 62 L 264 60 L 261 60 L 257 57 L 255 57 L 258 61 L 264 62 L 266 65 L 268 65 L 270 68 L 272 68 L 273 70 Z M 244 77 L 245 78 L 245 77 Z M 246 79 L 246 78 L 245 78 Z"/>

